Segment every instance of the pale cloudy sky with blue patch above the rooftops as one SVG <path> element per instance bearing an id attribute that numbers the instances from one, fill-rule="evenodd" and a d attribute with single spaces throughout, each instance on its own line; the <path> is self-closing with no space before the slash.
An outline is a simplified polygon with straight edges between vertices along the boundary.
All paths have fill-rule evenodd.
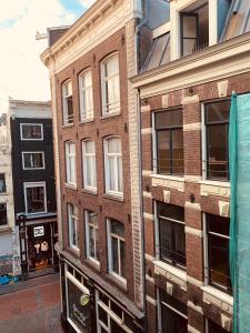
<path id="1" fill-rule="evenodd" d="M 47 40 L 36 33 L 72 24 L 94 0 L 8 0 L 0 10 L 0 113 L 9 98 L 50 100 L 49 71 L 40 60 Z"/>

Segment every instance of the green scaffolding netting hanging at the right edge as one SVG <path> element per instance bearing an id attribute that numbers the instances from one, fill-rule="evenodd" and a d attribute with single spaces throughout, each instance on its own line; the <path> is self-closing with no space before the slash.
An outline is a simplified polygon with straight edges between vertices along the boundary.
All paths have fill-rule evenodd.
<path id="1" fill-rule="evenodd" d="M 250 93 L 232 94 L 229 127 L 233 333 L 250 332 Z"/>

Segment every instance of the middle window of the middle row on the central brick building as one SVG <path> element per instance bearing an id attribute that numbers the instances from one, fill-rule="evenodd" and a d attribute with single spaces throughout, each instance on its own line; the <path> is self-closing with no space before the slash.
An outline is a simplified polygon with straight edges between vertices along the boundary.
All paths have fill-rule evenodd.
<path id="1" fill-rule="evenodd" d="M 97 167 L 94 142 L 87 140 L 82 142 L 82 165 L 84 189 L 97 190 Z"/>

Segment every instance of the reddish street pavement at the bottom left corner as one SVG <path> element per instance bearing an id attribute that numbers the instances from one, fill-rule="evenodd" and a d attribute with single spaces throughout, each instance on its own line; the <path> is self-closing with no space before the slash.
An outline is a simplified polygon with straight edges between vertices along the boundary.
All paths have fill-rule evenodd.
<path id="1" fill-rule="evenodd" d="M 59 281 L 0 295 L 1 333 L 63 333 Z"/>

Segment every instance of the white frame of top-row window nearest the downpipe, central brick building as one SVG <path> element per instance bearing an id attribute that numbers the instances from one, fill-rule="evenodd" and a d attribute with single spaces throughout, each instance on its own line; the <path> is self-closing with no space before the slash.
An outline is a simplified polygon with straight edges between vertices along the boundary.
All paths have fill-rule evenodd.
<path id="1" fill-rule="evenodd" d="M 113 73 L 111 75 L 106 75 L 104 68 L 107 62 L 109 62 L 111 59 L 117 59 L 118 61 L 118 72 Z M 108 103 L 107 101 L 107 82 L 109 81 L 116 81 L 118 77 L 118 91 L 119 91 L 119 100 L 114 101 L 112 104 Z M 113 95 L 114 94 L 114 85 L 113 87 Z M 109 114 L 119 114 L 121 112 L 121 91 L 120 91 L 120 61 L 119 61 L 119 53 L 112 53 L 109 57 L 107 57 L 102 62 L 101 62 L 101 98 L 102 98 L 102 115 L 109 115 Z M 109 110 L 111 105 L 111 111 Z M 108 108 L 109 107 L 109 108 Z"/>

